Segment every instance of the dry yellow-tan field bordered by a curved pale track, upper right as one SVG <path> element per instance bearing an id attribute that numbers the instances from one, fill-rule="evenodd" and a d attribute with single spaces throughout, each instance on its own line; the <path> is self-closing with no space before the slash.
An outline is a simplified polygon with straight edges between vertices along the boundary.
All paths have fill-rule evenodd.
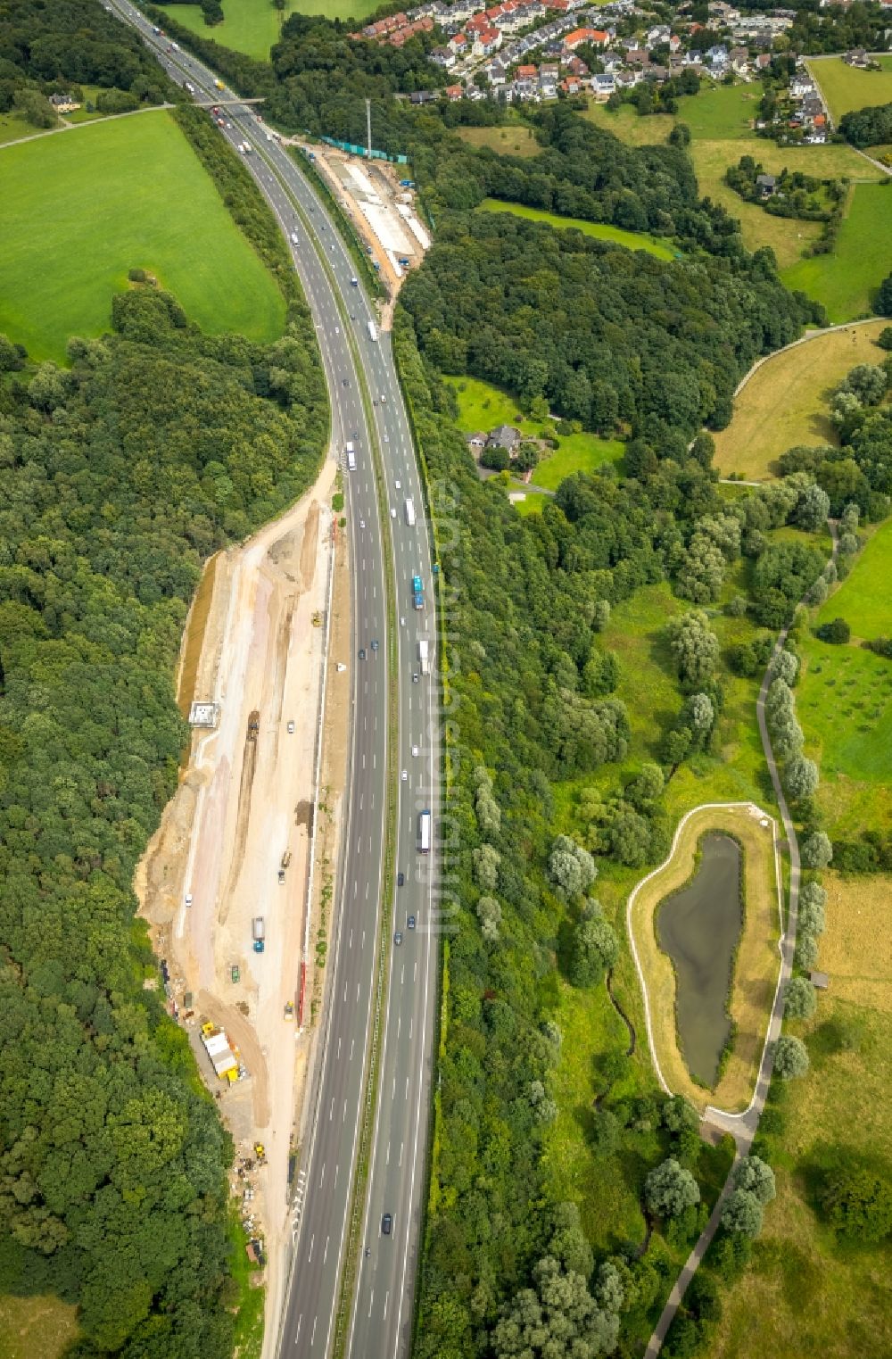
<path id="1" fill-rule="evenodd" d="M 793 444 L 836 443 L 828 393 L 857 363 L 882 359 L 874 340 L 887 323 L 832 330 L 763 363 L 735 401 L 733 420 L 716 435 L 720 474 L 763 481 Z"/>

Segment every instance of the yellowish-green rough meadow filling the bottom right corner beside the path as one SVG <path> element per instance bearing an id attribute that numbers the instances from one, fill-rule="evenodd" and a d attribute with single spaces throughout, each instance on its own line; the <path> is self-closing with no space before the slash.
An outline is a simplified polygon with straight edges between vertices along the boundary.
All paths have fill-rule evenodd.
<path id="1" fill-rule="evenodd" d="M 888 1277 L 892 1242 L 836 1241 L 815 1214 L 809 1163 L 828 1146 L 892 1158 L 888 1053 L 892 991 L 888 902 L 892 878 L 839 879 L 828 889 L 820 966 L 830 991 L 804 1034 L 812 1070 L 783 1089 L 783 1132 L 768 1137 L 778 1197 L 748 1272 L 722 1290 L 725 1314 L 710 1359 L 887 1359 L 892 1354 Z M 861 1034 L 847 1051 L 843 1027 Z"/>

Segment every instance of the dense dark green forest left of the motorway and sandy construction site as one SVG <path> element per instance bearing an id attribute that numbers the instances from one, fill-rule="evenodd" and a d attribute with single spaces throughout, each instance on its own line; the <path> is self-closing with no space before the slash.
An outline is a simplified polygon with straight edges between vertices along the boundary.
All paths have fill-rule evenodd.
<path id="1" fill-rule="evenodd" d="M 77 1359 L 224 1359 L 231 1144 L 132 881 L 201 563 L 311 482 L 324 385 L 304 326 L 208 338 L 147 285 L 113 318 L 67 370 L 0 341 L 0 1288 L 79 1303 Z"/>

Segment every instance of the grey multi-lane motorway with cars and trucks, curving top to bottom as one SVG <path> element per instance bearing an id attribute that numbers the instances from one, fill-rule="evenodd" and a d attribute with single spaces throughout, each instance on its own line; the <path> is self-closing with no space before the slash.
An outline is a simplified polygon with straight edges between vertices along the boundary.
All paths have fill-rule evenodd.
<path id="1" fill-rule="evenodd" d="M 110 3 L 119 18 L 138 29 L 174 80 L 189 82 L 198 101 L 220 101 L 221 136 L 236 149 L 244 144 L 251 148 L 244 163 L 281 224 L 312 313 L 331 402 L 333 446 L 339 455 L 348 442 L 356 448 L 356 472 L 345 473 L 353 568 L 353 707 L 339 902 L 320 1030 L 323 1049 L 300 1157 L 292 1273 L 278 1318 L 278 1354 L 324 1359 L 335 1337 L 376 1014 L 390 794 L 398 798 L 396 870 L 405 875 L 405 885 L 394 887 L 392 930 L 384 939 L 387 991 L 379 1015 L 377 1102 L 354 1299 L 343 1317 L 343 1335 L 346 1352 L 356 1359 L 402 1359 L 411 1343 L 437 991 L 436 834 L 432 853 L 418 848 L 420 813 L 430 810 L 434 826 L 437 815 L 437 693 L 418 662 L 420 637 L 426 636 L 432 650 L 436 640 L 434 597 L 409 421 L 390 338 L 369 337 L 373 308 L 361 281 L 353 283 L 349 254 L 292 156 L 267 137 L 248 106 L 231 102 L 238 101 L 234 91 L 216 87 L 213 72 L 155 33 L 126 0 Z M 371 421 L 360 374 L 373 402 Z M 379 514 L 375 444 L 384 480 L 384 522 Z M 414 525 L 407 522 L 406 499 L 414 501 Z M 386 552 L 392 553 L 395 580 L 396 768 L 387 765 Z M 424 583 L 422 610 L 413 606 L 413 575 Z M 409 928 L 410 916 L 414 928 Z M 396 932 L 401 943 L 395 942 Z M 388 1233 L 383 1230 L 386 1215 Z M 265 1352 L 272 1352 L 269 1345 Z"/>

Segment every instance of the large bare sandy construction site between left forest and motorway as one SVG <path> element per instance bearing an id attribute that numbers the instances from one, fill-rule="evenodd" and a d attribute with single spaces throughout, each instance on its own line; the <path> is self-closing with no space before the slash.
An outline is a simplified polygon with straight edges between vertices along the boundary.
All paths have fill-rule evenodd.
<path id="1" fill-rule="evenodd" d="M 136 879 L 170 1012 L 234 1137 L 267 1316 L 286 1282 L 346 768 L 337 476 L 326 461 L 297 504 L 205 567 L 178 674 L 191 738 Z"/>

